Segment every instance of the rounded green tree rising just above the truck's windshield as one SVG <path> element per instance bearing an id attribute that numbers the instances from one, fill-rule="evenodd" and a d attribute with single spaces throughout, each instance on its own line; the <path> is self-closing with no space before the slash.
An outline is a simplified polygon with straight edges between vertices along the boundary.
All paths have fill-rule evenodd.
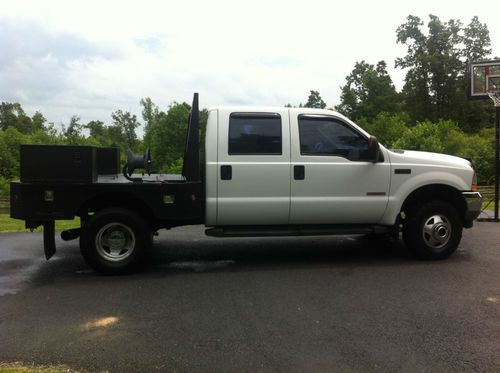
<path id="1" fill-rule="evenodd" d="M 377 66 L 365 61 L 356 62 L 342 87 L 340 104 L 336 109 L 349 118 L 368 121 L 381 113 L 395 113 L 399 109 L 399 96 L 387 73 L 387 64 Z"/>

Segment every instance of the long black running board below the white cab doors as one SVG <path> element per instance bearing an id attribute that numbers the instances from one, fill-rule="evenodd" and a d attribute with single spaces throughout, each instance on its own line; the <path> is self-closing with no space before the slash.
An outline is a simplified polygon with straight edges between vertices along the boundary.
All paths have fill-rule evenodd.
<path id="1" fill-rule="evenodd" d="M 321 236 L 339 234 L 383 234 L 390 227 L 381 225 L 263 225 L 225 226 L 205 230 L 212 237 L 280 237 L 280 236 Z"/>

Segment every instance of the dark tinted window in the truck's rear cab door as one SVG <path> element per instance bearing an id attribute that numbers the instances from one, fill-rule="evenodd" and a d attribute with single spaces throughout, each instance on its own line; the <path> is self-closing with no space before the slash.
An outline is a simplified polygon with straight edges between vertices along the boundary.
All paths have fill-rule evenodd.
<path id="1" fill-rule="evenodd" d="M 279 114 L 231 114 L 229 155 L 281 155 L 281 152 Z"/>

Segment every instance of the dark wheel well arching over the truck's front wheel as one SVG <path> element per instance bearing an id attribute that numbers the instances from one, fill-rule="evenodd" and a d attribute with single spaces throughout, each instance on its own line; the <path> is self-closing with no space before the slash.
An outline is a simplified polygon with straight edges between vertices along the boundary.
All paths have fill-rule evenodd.
<path id="1" fill-rule="evenodd" d="M 406 197 L 401 211 L 407 212 L 417 205 L 433 200 L 450 202 L 458 210 L 460 216 L 463 217 L 465 214 L 466 206 L 462 193 L 444 184 L 426 185 L 414 190 Z"/>

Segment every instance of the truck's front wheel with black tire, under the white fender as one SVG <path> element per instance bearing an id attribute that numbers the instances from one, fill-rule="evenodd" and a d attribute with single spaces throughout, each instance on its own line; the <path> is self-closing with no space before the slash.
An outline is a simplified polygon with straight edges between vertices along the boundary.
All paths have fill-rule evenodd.
<path id="1" fill-rule="evenodd" d="M 419 259 L 446 259 L 457 249 L 463 224 L 448 202 L 430 201 L 406 212 L 403 240 Z"/>

